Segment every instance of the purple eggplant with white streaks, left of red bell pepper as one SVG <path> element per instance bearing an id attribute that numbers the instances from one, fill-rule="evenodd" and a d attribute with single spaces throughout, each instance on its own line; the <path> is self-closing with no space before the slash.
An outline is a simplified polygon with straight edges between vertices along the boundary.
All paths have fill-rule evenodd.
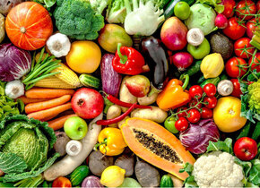
<path id="1" fill-rule="evenodd" d="M 122 75 L 117 73 L 113 66 L 114 55 L 105 54 L 101 59 L 101 79 L 102 79 L 102 90 L 107 94 L 118 96 Z"/>

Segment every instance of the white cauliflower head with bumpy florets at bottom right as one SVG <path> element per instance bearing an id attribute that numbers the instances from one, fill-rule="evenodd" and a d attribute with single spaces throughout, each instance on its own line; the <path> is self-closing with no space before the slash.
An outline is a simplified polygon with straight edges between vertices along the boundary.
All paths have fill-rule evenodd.
<path id="1" fill-rule="evenodd" d="M 199 187 L 243 187 L 243 169 L 230 153 L 213 151 L 198 158 L 192 175 Z"/>

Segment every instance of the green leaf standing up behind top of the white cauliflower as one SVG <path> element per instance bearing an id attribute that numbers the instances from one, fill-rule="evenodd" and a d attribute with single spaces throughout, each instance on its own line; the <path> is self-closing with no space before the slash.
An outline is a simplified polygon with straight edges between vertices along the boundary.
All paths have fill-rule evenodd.
<path id="1" fill-rule="evenodd" d="M 217 142 L 210 141 L 209 146 L 207 147 L 207 153 L 215 150 L 221 150 L 232 154 L 232 139 L 227 138 L 225 141 Z"/>

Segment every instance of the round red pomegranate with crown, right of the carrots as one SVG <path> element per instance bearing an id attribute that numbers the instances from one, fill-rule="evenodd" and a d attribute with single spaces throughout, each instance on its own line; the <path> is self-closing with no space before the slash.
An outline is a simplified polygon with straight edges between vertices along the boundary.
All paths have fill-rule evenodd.
<path id="1" fill-rule="evenodd" d="M 104 100 L 97 90 L 82 88 L 72 98 L 74 113 L 83 119 L 92 119 L 103 111 Z"/>

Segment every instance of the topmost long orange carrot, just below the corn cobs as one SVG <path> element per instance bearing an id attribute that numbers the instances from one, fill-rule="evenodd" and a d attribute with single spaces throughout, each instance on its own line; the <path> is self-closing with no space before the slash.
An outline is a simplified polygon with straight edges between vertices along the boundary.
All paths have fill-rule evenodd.
<path id="1" fill-rule="evenodd" d="M 33 88 L 25 92 L 27 98 L 59 98 L 64 95 L 73 95 L 74 90 Z"/>

